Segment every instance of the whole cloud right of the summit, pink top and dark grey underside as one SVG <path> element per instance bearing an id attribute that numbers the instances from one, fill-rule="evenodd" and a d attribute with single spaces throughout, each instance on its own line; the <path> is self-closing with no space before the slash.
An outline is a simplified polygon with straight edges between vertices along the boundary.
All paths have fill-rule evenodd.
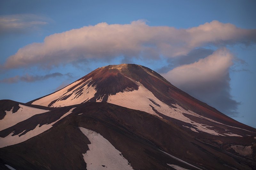
<path id="1" fill-rule="evenodd" d="M 227 48 L 220 48 L 206 58 L 176 67 L 162 76 L 222 113 L 236 116 L 239 102 L 230 95 L 229 78 L 233 59 L 234 56 Z"/>

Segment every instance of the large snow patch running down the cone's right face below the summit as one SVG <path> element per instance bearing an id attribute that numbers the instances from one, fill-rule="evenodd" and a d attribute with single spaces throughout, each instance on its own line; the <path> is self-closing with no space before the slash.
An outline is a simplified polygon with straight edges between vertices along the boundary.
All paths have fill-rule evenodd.
<path id="1" fill-rule="evenodd" d="M 206 133 L 209 133 L 212 135 L 224 136 L 224 135 L 218 133 L 217 130 L 212 130 L 212 129 L 207 128 L 207 127 L 212 127 L 212 126 L 194 122 L 194 121 L 190 120 L 188 117 L 184 116 L 183 113 L 186 113 L 188 115 L 193 115 L 196 117 L 200 117 L 200 118 L 205 118 L 212 122 L 216 122 L 216 121 L 206 118 L 204 116 L 200 116 L 192 111 L 187 111 L 187 110 L 183 109 L 181 106 L 179 106 L 178 104 L 173 105 L 177 108 L 170 107 L 167 104 L 165 104 L 164 102 L 157 99 L 156 96 L 152 92 L 150 92 L 146 87 L 144 87 L 140 82 L 135 82 L 135 83 L 137 85 L 139 85 L 138 90 L 133 90 L 131 92 L 128 92 L 128 91 L 118 92 L 115 95 L 109 95 L 107 102 L 115 104 L 115 105 L 131 108 L 131 109 L 135 109 L 135 110 L 141 110 L 141 111 L 150 113 L 152 115 L 161 117 L 158 114 L 156 114 L 156 112 L 154 110 L 152 110 L 152 107 L 149 106 L 149 105 L 152 105 L 158 112 L 160 112 L 163 115 L 180 120 L 182 122 L 187 122 L 187 123 L 192 124 L 194 127 L 194 128 L 191 128 L 192 131 L 199 130 L 199 131 L 203 131 L 203 132 L 206 132 Z"/>

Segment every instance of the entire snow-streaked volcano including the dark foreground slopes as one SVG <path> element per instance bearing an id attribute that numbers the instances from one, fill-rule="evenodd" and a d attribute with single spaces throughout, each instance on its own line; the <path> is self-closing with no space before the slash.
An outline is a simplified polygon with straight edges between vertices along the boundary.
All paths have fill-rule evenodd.
<path id="1" fill-rule="evenodd" d="M 0 106 L 3 169 L 256 169 L 256 129 L 141 65 Z"/>

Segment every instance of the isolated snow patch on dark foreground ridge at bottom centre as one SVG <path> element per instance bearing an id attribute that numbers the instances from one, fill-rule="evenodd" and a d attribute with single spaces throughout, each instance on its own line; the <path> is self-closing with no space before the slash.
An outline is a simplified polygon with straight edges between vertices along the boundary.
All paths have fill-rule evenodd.
<path id="1" fill-rule="evenodd" d="M 131 170 L 132 166 L 106 138 L 99 133 L 79 127 L 90 140 L 89 150 L 83 154 L 87 170 Z"/>

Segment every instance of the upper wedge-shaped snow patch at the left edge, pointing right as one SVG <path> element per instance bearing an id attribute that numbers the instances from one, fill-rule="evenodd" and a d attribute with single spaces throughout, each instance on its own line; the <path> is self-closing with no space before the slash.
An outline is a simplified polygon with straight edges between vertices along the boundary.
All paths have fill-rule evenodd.
<path id="1" fill-rule="evenodd" d="M 19 122 L 22 122 L 34 115 L 48 112 L 50 110 L 39 109 L 19 104 L 20 108 L 17 112 L 12 113 L 13 107 L 10 111 L 5 111 L 4 119 L 0 120 L 0 131 L 9 128 Z"/>

